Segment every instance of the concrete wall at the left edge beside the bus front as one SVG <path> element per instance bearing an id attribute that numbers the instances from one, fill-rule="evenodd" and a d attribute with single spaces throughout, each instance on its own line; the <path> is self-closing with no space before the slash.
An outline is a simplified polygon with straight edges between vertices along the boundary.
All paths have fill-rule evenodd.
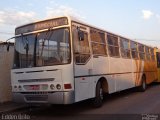
<path id="1" fill-rule="evenodd" d="M 7 52 L 6 45 L 0 45 L 0 103 L 11 101 L 11 76 L 14 46 Z"/>

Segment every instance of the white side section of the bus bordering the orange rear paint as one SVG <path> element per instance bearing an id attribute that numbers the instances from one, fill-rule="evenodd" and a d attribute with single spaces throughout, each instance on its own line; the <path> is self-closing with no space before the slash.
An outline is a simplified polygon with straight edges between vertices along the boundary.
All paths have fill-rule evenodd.
<path id="1" fill-rule="evenodd" d="M 132 60 L 112 57 L 109 60 L 110 74 L 116 80 L 116 91 L 134 87 Z"/>

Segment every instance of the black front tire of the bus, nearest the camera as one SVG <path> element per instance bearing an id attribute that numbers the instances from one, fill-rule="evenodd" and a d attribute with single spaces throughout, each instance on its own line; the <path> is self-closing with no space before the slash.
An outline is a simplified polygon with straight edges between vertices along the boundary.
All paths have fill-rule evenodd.
<path id="1" fill-rule="evenodd" d="M 99 81 L 99 82 L 97 83 L 97 86 L 96 86 L 96 96 L 95 96 L 95 98 L 93 99 L 93 106 L 94 106 L 95 108 L 101 107 L 102 104 L 103 104 L 103 98 L 104 98 L 104 96 L 103 96 L 102 84 L 101 84 L 101 82 Z"/>

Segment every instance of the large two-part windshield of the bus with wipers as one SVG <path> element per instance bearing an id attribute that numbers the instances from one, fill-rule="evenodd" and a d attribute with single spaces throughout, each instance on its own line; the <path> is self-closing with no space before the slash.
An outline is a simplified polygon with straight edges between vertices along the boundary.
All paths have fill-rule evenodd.
<path id="1" fill-rule="evenodd" d="M 71 61 L 69 29 L 61 28 L 15 38 L 13 68 L 67 64 Z"/>

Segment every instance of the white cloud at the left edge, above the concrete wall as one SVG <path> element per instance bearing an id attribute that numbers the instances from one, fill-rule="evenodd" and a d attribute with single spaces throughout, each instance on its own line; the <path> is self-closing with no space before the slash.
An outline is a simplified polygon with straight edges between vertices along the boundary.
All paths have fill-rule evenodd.
<path id="1" fill-rule="evenodd" d="M 35 20 L 35 12 L 17 11 L 15 9 L 1 10 L 0 11 L 0 24 L 5 25 L 21 25 Z"/>

